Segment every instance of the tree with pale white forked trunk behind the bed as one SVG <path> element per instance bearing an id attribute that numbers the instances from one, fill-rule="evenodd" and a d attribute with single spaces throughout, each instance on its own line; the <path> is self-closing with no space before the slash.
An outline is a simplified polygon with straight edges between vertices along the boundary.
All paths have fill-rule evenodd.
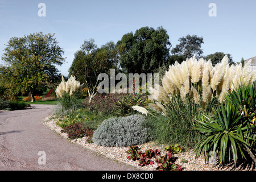
<path id="1" fill-rule="evenodd" d="M 92 42 L 90 42 L 92 40 Z M 69 68 L 69 76 L 73 75 L 81 84 L 85 84 L 89 94 L 89 102 L 97 94 L 98 75 L 110 74 L 110 69 L 118 69 L 118 54 L 113 42 L 108 42 L 101 48 L 93 46 L 86 49 L 86 45 L 94 44 L 94 40 L 85 40 L 81 49 L 75 53 L 72 65 Z M 85 48 L 85 49 L 84 49 Z"/>

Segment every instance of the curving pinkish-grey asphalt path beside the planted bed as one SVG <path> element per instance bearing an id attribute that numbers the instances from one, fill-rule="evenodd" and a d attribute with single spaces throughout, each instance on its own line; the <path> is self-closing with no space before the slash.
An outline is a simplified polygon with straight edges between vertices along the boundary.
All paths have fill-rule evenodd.
<path id="1" fill-rule="evenodd" d="M 1 171 L 131 171 L 138 168 L 108 159 L 53 133 L 43 125 L 55 105 L 0 113 Z"/>

